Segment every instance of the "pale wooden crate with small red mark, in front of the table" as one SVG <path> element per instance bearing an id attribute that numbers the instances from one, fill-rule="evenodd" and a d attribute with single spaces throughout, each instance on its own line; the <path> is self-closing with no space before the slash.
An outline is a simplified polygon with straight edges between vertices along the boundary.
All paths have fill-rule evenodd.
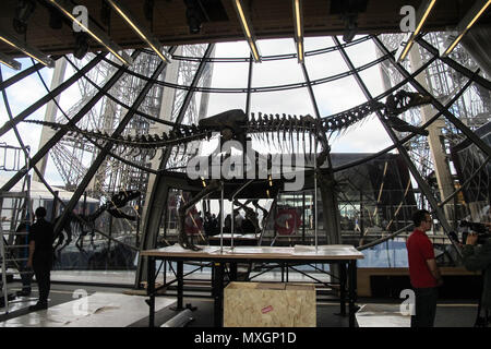
<path id="1" fill-rule="evenodd" d="M 224 327 L 315 327 L 313 285 L 230 282 L 224 290 Z"/>

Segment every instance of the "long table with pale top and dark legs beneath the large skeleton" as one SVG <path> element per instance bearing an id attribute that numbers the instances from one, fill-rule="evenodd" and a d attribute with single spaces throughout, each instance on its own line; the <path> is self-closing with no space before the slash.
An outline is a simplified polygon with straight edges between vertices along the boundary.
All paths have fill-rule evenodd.
<path id="1" fill-rule="evenodd" d="M 363 258 L 363 254 L 352 245 L 322 245 L 295 248 L 280 246 L 200 246 L 200 251 L 184 250 L 180 245 L 172 245 L 156 250 L 142 251 L 142 256 L 148 260 L 147 267 L 147 294 L 149 296 L 149 326 L 154 326 L 155 320 L 155 262 L 177 262 L 178 305 L 183 309 L 183 263 L 184 262 L 212 262 L 212 294 L 215 300 L 214 325 L 223 325 L 223 298 L 224 298 L 224 265 L 230 263 L 319 263 L 339 265 L 340 278 L 340 313 L 346 314 L 346 300 L 349 304 L 349 326 L 355 327 L 355 302 L 357 300 L 357 260 Z M 348 285 L 348 289 L 346 286 Z M 347 296 L 347 299 L 346 299 Z"/>

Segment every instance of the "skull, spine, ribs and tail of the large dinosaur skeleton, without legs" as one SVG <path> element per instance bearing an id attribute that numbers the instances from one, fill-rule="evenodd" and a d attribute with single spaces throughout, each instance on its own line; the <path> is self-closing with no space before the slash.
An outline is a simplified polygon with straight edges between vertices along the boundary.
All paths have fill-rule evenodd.
<path id="1" fill-rule="evenodd" d="M 287 116 L 287 115 L 266 115 L 259 112 L 258 116 L 251 113 L 251 118 L 240 109 L 228 110 L 223 113 L 202 119 L 199 124 L 175 124 L 170 132 L 158 134 L 141 135 L 117 135 L 112 136 L 98 130 L 82 130 L 75 124 L 69 122 L 65 124 L 25 120 L 24 122 L 43 124 L 53 130 L 64 130 L 68 136 L 88 139 L 99 145 L 110 142 L 113 145 L 112 153 L 121 156 L 146 155 L 152 159 L 158 149 L 171 146 L 184 147 L 187 153 L 188 144 L 192 141 L 209 140 L 216 132 L 219 132 L 223 140 L 235 139 L 241 143 L 244 142 L 246 134 L 264 134 L 265 141 L 270 143 L 287 142 L 292 143 L 294 134 L 297 133 L 297 145 L 306 142 L 306 133 L 310 135 L 309 145 L 312 149 L 312 137 L 314 135 L 326 134 L 331 132 L 340 132 L 349 127 L 362 121 L 375 111 L 382 111 L 385 122 L 397 131 L 415 132 L 421 135 L 428 135 L 428 131 L 410 125 L 397 115 L 419 105 L 428 104 L 430 99 L 406 91 L 399 91 L 395 95 L 387 97 L 385 104 L 380 101 L 369 101 L 356 108 L 336 113 L 334 116 L 315 119 L 311 116 Z M 302 139 L 300 142 L 300 133 Z M 271 137 L 271 141 L 270 141 Z"/>

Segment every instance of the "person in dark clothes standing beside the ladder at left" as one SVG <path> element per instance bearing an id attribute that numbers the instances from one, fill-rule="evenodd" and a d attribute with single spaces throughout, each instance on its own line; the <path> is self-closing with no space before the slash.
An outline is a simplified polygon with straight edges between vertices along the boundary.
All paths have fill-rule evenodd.
<path id="1" fill-rule="evenodd" d="M 36 222 L 29 231 L 29 257 L 27 266 L 32 266 L 39 287 L 39 300 L 31 305 L 29 310 L 48 309 L 48 294 L 50 288 L 50 272 L 52 266 L 52 236 L 53 228 L 45 220 L 46 209 L 36 209 Z"/>

